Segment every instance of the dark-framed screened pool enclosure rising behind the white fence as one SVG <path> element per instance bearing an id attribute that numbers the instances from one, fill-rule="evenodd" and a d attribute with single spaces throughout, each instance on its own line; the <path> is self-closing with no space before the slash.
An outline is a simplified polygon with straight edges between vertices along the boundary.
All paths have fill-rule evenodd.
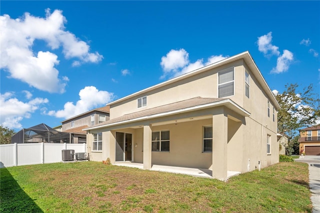
<path id="1" fill-rule="evenodd" d="M 57 131 L 41 123 L 30 128 L 23 128 L 11 137 L 11 143 L 70 143 L 68 132 Z"/>

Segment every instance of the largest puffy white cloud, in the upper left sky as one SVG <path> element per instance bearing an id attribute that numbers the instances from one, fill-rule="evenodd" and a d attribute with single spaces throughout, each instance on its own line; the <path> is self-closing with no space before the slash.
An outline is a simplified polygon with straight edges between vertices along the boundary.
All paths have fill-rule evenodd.
<path id="1" fill-rule="evenodd" d="M 25 13 L 22 18 L 0 16 L 0 68 L 7 70 L 9 77 L 26 82 L 30 86 L 48 92 L 64 92 L 65 78 L 58 76 L 55 66 L 57 55 L 49 51 L 33 52 L 34 40 L 43 40 L 51 49 L 62 47 L 65 58 L 76 58 L 72 66 L 84 62 L 96 63 L 102 59 L 99 53 L 89 52 L 89 45 L 65 30 L 66 18 L 61 10 L 44 18 Z"/>

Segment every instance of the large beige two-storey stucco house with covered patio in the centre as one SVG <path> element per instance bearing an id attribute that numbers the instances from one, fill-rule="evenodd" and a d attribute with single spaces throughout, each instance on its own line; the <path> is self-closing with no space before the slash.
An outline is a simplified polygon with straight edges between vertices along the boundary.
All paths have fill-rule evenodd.
<path id="1" fill-rule="evenodd" d="M 278 162 L 279 104 L 248 51 L 109 104 L 87 127 L 91 160 L 247 172 Z"/>

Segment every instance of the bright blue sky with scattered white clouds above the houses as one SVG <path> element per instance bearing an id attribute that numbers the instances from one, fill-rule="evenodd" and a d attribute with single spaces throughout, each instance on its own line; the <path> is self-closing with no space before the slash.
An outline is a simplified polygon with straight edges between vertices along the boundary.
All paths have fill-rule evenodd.
<path id="1" fill-rule="evenodd" d="M 271 90 L 319 92 L 320 1 L 0 1 L 0 121 L 54 127 L 248 50 Z M 187 92 L 187 91 L 185 91 Z"/>

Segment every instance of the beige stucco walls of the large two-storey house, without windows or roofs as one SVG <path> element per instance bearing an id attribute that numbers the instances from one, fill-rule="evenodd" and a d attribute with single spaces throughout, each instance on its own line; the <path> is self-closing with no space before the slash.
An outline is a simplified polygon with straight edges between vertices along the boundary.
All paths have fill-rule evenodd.
<path id="1" fill-rule="evenodd" d="M 143 126 L 151 124 L 152 131 L 170 130 L 170 151 L 152 152 L 152 164 L 210 168 L 212 167 L 212 159 L 216 159 L 221 160 L 221 162 L 225 160 L 222 167 L 226 166 L 227 170 L 246 172 L 257 169 L 259 167 L 259 162 L 261 168 L 278 162 L 279 142 L 277 141 L 276 136 L 276 111 L 274 114 L 274 121 L 272 118 L 272 101 L 274 100 L 270 100 L 270 97 L 268 97 L 243 60 L 237 60 L 218 68 L 207 70 L 169 85 L 155 88 L 152 91 L 134 96 L 130 99 L 112 104 L 110 106 L 110 118 L 196 96 L 217 97 L 217 72 L 229 67 L 234 67 L 235 71 L 235 93 L 226 98 L 230 98 L 237 105 L 243 107 L 250 113 L 250 116 L 242 117 L 226 108 L 222 110 L 222 113 L 226 113 L 227 115 L 227 131 L 225 131 L 225 129 L 223 130 L 227 132 L 227 139 L 225 140 L 227 141 L 227 145 L 224 146 L 223 143 L 221 143 L 217 147 L 223 147 L 223 149 L 226 147 L 226 151 L 214 150 L 217 151 L 215 153 L 221 155 L 222 158 L 216 159 L 212 153 L 202 153 L 202 126 L 212 125 L 212 116 L 214 120 L 214 115 L 217 114 L 217 111 L 222 109 L 221 107 L 136 121 L 134 123 L 125 123 L 117 125 L 116 127 L 102 127 L 100 129 L 91 130 L 91 132 L 108 132 L 105 134 L 103 133 L 102 135 L 102 144 L 105 144 L 105 146 L 102 145 L 103 154 L 101 157 L 103 159 L 110 157 L 114 161 L 114 134 L 115 131 L 121 131 L 132 133 L 133 161 L 142 163 Z M 249 73 L 250 78 L 249 98 L 245 96 L 245 70 Z M 136 99 L 143 96 L 147 96 L 147 106 L 137 108 Z M 269 116 L 267 116 L 268 99 L 270 100 Z M 224 117 L 217 117 L 219 117 L 218 119 L 225 121 L 226 115 L 224 115 Z M 196 116 L 205 116 L 205 118 L 185 122 L 185 119 Z M 174 123 L 159 124 L 164 121 L 180 119 L 183 119 L 183 122 L 178 122 L 176 125 Z M 218 124 L 215 125 L 216 127 L 219 126 Z M 266 153 L 266 138 L 268 134 L 270 135 L 271 140 L 271 153 L 269 154 Z M 223 135 L 221 138 L 224 140 Z M 215 142 L 219 141 L 215 141 L 213 135 L 213 143 Z M 104 147 L 106 147 L 106 149 L 104 149 Z M 93 155 L 95 157 L 94 159 L 98 158 L 98 153 L 92 153 L 92 156 Z"/>

